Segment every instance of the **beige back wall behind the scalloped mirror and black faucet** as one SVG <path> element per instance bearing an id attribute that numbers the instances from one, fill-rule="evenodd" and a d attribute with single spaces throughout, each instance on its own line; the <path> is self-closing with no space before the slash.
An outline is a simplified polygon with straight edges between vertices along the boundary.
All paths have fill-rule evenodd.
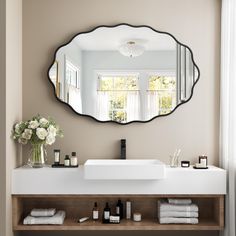
<path id="1" fill-rule="evenodd" d="M 174 114 L 147 124 L 101 124 L 56 101 L 47 81 L 55 49 L 77 32 L 121 22 L 168 31 L 193 50 L 201 78 L 192 100 Z M 219 0 L 24 0 L 23 116 L 40 113 L 56 118 L 65 138 L 52 148 L 75 150 L 81 162 L 118 157 L 118 140 L 126 138 L 128 158 L 168 162 L 179 147 L 183 159 L 195 161 L 205 153 L 210 163 L 217 164 L 219 47 Z M 48 150 L 50 159 L 52 149 Z"/>

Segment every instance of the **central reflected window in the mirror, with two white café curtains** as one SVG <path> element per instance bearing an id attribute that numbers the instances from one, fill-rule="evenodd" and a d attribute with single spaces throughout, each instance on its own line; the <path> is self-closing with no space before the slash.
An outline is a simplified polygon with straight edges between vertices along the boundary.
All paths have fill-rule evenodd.
<path id="1" fill-rule="evenodd" d="M 97 115 L 101 120 L 126 123 L 140 118 L 138 74 L 98 76 Z"/>

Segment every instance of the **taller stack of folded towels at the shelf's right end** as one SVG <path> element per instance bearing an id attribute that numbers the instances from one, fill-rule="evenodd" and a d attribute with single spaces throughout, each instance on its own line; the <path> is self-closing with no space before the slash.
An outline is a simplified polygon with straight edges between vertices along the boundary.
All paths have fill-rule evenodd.
<path id="1" fill-rule="evenodd" d="M 158 201 L 160 224 L 198 224 L 198 206 L 191 199 Z"/>

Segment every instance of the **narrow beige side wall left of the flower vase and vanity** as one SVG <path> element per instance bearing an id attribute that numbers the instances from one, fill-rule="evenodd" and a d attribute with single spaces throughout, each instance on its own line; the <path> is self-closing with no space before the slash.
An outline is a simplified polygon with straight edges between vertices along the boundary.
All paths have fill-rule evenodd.
<path id="1" fill-rule="evenodd" d="M 21 149 L 10 138 L 22 118 L 22 1 L 0 1 L 0 235 L 12 232 L 11 170 L 21 163 Z"/>

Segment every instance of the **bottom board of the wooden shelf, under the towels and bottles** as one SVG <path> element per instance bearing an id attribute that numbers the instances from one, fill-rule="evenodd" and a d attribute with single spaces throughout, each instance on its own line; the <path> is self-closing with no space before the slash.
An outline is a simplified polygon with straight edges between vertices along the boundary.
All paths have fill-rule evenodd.
<path id="1" fill-rule="evenodd" d="M 216 222 L 207 219 L 200 220 L 196 225 L 159 224 L 153 220 L 142 220 L 134 222 L 132 220 L 122 220 L 120 224 L 102 224 L 101 222 L 87 221 L 76 223 L 73 219 L 66 219 L 63 225 L 23 225 L 19 224 L 14 230 L 222 230 Z"/>

